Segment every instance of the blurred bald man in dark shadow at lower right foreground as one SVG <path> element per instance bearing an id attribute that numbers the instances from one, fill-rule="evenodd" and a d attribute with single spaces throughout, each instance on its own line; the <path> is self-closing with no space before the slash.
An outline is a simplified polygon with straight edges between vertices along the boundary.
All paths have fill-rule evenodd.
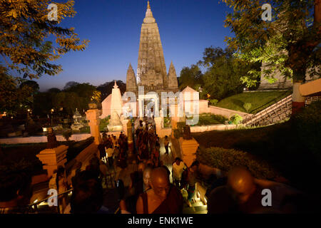
<path id="1" fill-rule="evenodd" d="M 271 192 L 271 205 L 263 206 L 264 189 Z M 208 199 L 208 214 L 215 213 L 292 213 L 299 212 L 300 192 L 277 182 L 255 180 L 244 167 L 228 173 L 227 185 L 216 187 Z M 301 207 L 302 205 L 300 205 Z"/>

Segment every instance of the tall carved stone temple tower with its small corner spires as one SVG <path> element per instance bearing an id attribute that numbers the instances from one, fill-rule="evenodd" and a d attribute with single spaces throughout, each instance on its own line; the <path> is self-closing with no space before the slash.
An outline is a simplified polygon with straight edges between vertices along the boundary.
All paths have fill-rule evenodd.
<path id="1" fill-rule="evenodd" d="M 173 62 L 167 73 L 161 36 L 158 25 L 153 17 L 148 1 L 147 11 L 141 26 L 141 40 L 138 51 L 137 77 L 131 64 L 128 67 L 126 91 L 138 94 L 138 86 L 144 87 L 144 92 L 178 91 L 178 81 Z"/>

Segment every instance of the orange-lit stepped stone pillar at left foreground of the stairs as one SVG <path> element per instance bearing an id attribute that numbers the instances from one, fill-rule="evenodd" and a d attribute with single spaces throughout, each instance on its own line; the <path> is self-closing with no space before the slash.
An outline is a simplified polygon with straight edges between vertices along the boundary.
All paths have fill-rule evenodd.
<path id="1" fill-rule="evenodd" d="M 57 170 L 59 165 L 65 167 L 67 150 L 68 146 L 59 145 L 56 148 L 41 150 L 41 152 L 36 155 L 44 165 L 44 170 L 47 170 L 48 177 L 54 174 L 54 170 Z"/>

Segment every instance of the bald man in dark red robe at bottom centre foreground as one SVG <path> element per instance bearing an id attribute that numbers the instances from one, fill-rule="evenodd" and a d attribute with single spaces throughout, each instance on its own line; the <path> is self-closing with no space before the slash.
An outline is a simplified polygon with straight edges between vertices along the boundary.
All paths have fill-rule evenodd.
<path id="1" fill-rule="evenodd" d="M 177 187 L 170 184 L 168 172 L 158 167 L 151 172 L 151 189 L 138 197 L 138 214 L 179 214 L 183 210 L 183 197 Z"/>

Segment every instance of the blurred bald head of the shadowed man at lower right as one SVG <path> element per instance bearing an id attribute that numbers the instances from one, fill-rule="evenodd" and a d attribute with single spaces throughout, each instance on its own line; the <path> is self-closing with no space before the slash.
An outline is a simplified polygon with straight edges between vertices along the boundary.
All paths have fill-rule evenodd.
<path id="1" fill-rule="evenodd" d="M 228 172 L 228 186 L 233 197 L 244 203 L 255 191 L 254 177 L 245 167 L 235 167 Z"/>

